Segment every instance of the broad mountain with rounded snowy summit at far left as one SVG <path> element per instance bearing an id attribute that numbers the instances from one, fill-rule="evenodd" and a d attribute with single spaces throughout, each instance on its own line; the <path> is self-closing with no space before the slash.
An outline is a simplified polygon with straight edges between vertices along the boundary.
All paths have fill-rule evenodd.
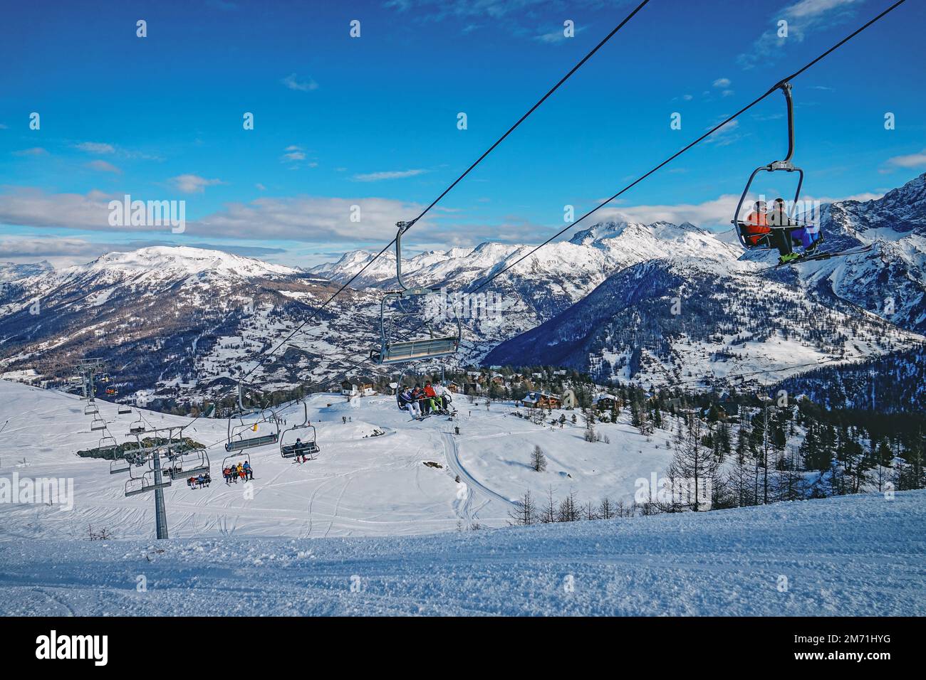
<path id="1" fill-rule="evenodd" d="M 207 392 L 209 384 L 218 388 L 250 368 L 258 352 L 334 290 L 299 269 L 219 251 L 107 253 L 0 290 L 0 371 L 35 368 L 65 377 L 77 359 L 100 356 L 124 396 L 139 389 L 162 396 Z M 350 349 L 328 343 L 313 349 L 312 340 L 371 338 L 367 313 L 355 310 L 366 299 L 344 291 L 318 324 L 294 339 L 288 356 L 280 352 L 265 379 L 292 386 L 310 377 L 308 359 L 322 355 L 332 371 L 342 366 L 353 356 Z"/>

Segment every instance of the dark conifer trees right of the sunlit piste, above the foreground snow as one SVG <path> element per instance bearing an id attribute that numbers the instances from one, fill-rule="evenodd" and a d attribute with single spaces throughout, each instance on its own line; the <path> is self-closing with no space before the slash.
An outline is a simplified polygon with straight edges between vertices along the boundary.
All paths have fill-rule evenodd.
<path id="1" fill-rule="evenodd" d="M 657 399 L 629 394 L 632 421 L 656 427 Z M 682 400 L 684 402 L 685 400 Z M 694 405 L 697 397 L 688 400 Z M 719 510 L 777 501 L 800 501 L 859 492 L 926 488 L 926 418 L 832 412 L 801 400 L 783 405 L 769 399 L 743 402 L 731 418 L 714 407 L 683 408 L 665 403 L 672 427 L 673 457 L 660 488 L 643 498 L 582 503 L 569 491 L 542 502 L 530 491 L 512 512 L 511 524 L 532 525 L 578 519 L 609 519 L 653 513 Z M 594 440 L 594 412 L 586 415 L 585 439 Z M 636 415 L 633 415 L 636 413 Z M 532 468 L 545 469 L 540 447 Z"/>

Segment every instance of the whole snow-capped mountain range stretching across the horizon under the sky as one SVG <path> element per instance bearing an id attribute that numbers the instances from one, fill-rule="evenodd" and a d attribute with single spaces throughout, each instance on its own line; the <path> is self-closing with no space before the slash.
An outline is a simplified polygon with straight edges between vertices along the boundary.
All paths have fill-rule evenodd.
<path id="1" fill-rule="evenodd" d="M 494 308 L 463 314 L 461 364 L 482 361 L 505 341 L 489 363 L 561 359 L 599 376 L 611 370 L 615 377 L 655 381 L 806 363 L 795 361 L 792 351 L 813 360 L 860 360 L 866 352 L 871 358 L 909 350 L 920 340 L 880 326 L 874 315 L 926 332 L 924 185 L 926 175 L 881 199 L 824 206 L 825 247 L 870 243 L 869 253 L 764 275 L 729 234 L 666 222 L 599 223 L 530 255 L 532 245 L 494 242 L 420 253 L 406 259 L 403 271 L 408 283 L 451 292 L 476 291 L 501 272 L 482 290 Z M 103 353 L 130 376 L 133 388 L 174 396 L 214 393 L 371 257 L 346 253 L 306 272 L 228 253 L 159 247 L 108 253 L 58 272 L 18 266 L 15 275 L 7 274 L 15 280 L 0 287 L 0 369 L 36 368 L 61 377 L 75 358 Z M 363 359 L 378 337 L 382 291 L 395 286 L 394 264 L 394 253 L 384 253 L 255 377 L 271 388 L 292 387 L 323 381 Z M 570 312 L 603 286 L 613 297 L 598 293 L 593 317 Z M 696 322 L 684 311 L 663 318 L 665 301 L 673 297 L 682 298 L 682 310 L 693 309 L 699 297 L 704 315 Z M 599 308 L 601 301 L 612 307 Z M 39 314 L 30 313 L 35 303 Z M 790 328 L 801 315 L 831 319 L 832 326 L 801 322 Z M 532 331 L 544 323 L 551 325 Z M 598 323 L 612 329 L 605 332 Z M 544 337 L 550 328 L 561 334 L 552 343 Z M 776 328 L 809 347 L 779 346 L 770 331 Z M 891 340 L 872 344 L 875 330 Z M 519 339 L 525 331 L 532 334 Z M 733 351 L 746 337 L 753 338 L 748 352 Z"/>

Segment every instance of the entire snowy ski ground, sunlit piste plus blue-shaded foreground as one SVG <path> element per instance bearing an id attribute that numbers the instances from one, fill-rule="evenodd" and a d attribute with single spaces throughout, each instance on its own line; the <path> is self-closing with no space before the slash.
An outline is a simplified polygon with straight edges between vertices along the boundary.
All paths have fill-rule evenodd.
<path id="1" fill-rule="evenodd" d="M 581 422 L 551 431 L 499 404 L 470 416 L 460 399 L 453 423 L 409 423 L 391 398 L 317 395 L 318 460 L 254 450 L 246 499 L 221 481 L 219 443 L 212 488 L 166 489 L 171 538 L 156 541 L 153 499 L 124 498 L 125 474 L 74 456 L 98 437 L 81 402 L 9 382 L 0 397 L 0 476 L 68 476 L 75 495 L 73 510 L 0 503 L 4 615 L 926 614 L 924 491 L 469 530 L 505 525 L 524 488 L 627 500 L 669 451 L 624 423 L 588 443 Z M 137 416 L 100 405 L 121 442 Z M 194 427 L 204 443 L 225 429 Z M 527 466 L 534 443 L 544 473 Z M 82 538 L 88 524 L 116 539 Z"/>

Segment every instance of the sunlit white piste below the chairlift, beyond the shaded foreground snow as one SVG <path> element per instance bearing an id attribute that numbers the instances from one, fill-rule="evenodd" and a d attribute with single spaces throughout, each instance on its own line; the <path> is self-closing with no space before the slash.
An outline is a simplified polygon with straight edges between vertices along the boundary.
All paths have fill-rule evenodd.
<path id="1" fill-rule="evenodd" d="M 134 441 L 126 433 L 139 416 L 119 415 L 115 405 L 97 403 L 118 442 Z M 246 497 L 242 485 L 222 482 L 227 421 L 200 419 L 184 436 L 210 446 L 214 481 L 206 489 L 190 489 L 180 481 L 165 490 L 170 535 L 317 538 L 502 526 L 512 509 L 510 501 L 526 489 L 538 498 L 552 487 L 557 497 L 572 489 L 584 501 L 597 503 L 607 496 L 629 504 L 635 481 L 662 475 L 669 463 L 670 432 L 647 441 L 626 418 L 599 427 L 611 443 L 589 443 L 582 439 L 581 419 L 554 431 L 548 424 L 510 415 L 515 410 L 511 405 L 486 409 L 458 397 L 457 408 L 459 417 L 453 422 L 433 417 L 419 423 L 409 422 L 394 397 L 347 402 L 340 395 L 314 395 L 308 400 L 308 416 L 318 427 L 319 458 L 300 465 L 282 459 L 277 446 L 252 450 L 254 498 Z M 141 413 L 154 427 L 190 422 Z M 302 421 L 301 407 L 279 413 L 291 425 Z M 548 419 L 556 417 L 558 412 Z M 344 424 L 343 418 L 349 421 Z M 80 538 L 88 525 L 106 528 L 117 538 L 152 536 L 152 499 L 126 498 L 127 474 L 110 475 L 105 460 L 76 456 L 76 451 L 95 448 L 102 435 L 89 431 L 90 418 L 83 415 L 79 399 L 0 380 L 0 427 L 4 423 L 0 475 L 66 476 L 74 479 L 76 498 L 69 512 L 0 503 L 0 541 Z M 460 434 L 450 434 L 457 426 Z M 385 434 L 370 437 L 377 430 Z M 535 445 L 548 454 L 543 473 L 529 465 Z"/>

